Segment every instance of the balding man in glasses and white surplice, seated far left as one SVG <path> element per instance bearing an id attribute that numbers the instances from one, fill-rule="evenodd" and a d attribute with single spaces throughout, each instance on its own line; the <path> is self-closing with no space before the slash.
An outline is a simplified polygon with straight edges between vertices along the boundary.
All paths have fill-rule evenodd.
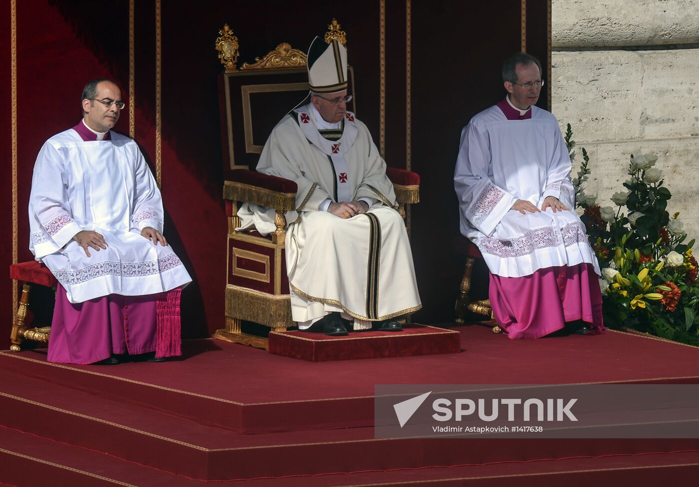
<path id="1" fill-rule="evenodd" d="M 178 356 L 192 278 L 163 235 L 160 191 L 138 145 L 112 131 L 125 107 L 115 82 L 88 82 L 81 104 L 82 120 L 41 147 L 29 196 L 29 249 L 59 282 L 48 361 Z"/>

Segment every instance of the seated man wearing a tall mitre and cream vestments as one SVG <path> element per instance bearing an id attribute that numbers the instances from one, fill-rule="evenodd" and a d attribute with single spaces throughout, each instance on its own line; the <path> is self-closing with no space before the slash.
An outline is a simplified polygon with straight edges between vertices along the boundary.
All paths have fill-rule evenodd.
<path id="1" fill-rule="evenodd" d="M 292 317 L 301 329 L 320 321 L 314 329 L 327 335 L 347 334 L 349 321 L 401 330 L 394 318 L 421 307 L 410 242 L 386 163 L 346 111 L 345 47 L 316 38 L 308 78 L 310 103 L 275 126 L 257 164 L 298 185 L 285 242 Z M 260 233 L 275 228 L 273 210 L 243 205 L 238 215 Z"/>

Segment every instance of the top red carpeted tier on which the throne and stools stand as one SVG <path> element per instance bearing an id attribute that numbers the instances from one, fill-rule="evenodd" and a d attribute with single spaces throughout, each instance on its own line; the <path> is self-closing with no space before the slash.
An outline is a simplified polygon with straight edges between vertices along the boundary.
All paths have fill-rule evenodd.
<path id="1" fill-rule="evenodd" d="M 236 433 L 370 425 L 374 384 L 699 382 L 696 347 L 611 331 L 508 340 L 482 326 L 456 329 L 459 354 L 307 363 L 219 340 L 188 340 L 183 358 L 166 363 L 60 365 L 46 363 L 45 351 L 1 351 L 0 368 Z"/>

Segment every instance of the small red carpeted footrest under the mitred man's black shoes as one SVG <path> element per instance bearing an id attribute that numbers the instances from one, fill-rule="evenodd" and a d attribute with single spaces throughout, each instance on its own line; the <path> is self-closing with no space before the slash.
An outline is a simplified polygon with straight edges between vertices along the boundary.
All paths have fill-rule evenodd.
<path id="1" fill-rule="evenodd" d="M 271 332 L 269 353 L 309 362 L 458 354 L 461 334 L 435 326 L 408 324 L 401 332 L 369 330 L 329 337 L 295 330 Z"/>

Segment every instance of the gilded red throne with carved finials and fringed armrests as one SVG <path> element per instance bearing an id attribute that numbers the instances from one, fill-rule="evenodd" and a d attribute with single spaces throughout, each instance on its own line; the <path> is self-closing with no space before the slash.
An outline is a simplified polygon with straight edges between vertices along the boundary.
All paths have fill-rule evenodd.
<path id="1" fill-rule="evenodd" d="M 325 41 L 346 42 L 345 32 L 333 19 Z M 219 106 L 224 156 L 224 189 L 228 217 L 226 257 L 225 328 L 214 337 L 267 348 L 265 331 L 294 326 L 284 259 L 287 221 L 284 212 L 296 209 L 296 183 L 254 171 L 259 154 L 274 126 L 308 94 L 306 55 L 281 43 L 254 64 L 236 66 L 238 38 L 228 25 L 216 41 L 219 59 L 226 66 L 219 76 Z M 356 112 L 354 70 L 348 66 Z M 419 176 L 408 170 L 387 168 L 394 182 L 397 210 L 405 217 L 405 204 L 419 201 Z M 257 231 L 238 231 L 238 203 L 274 208 L 276 230 L 268 237 Z M 243 322 L 257 324 L 257 333 L 243 330 Z M 248 326 L 248 323 L 245 323 Z M 261 326 L 261 327 L 260 327 Z M 262 329 L 262 333 L 259 333 Z"/>

